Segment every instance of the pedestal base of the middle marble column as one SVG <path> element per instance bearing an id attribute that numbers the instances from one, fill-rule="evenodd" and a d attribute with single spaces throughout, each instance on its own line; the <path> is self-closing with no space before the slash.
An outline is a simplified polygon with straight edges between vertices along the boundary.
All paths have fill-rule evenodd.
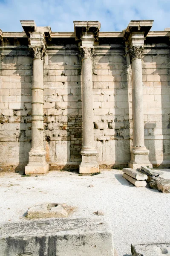
<path id="1" fill-rule="evenodd" d="M 99 165 L 96 161 L 97 151 L 95 148 L 83 148 L 81 150 L 82 162 L 79 166 L 79 173 L 99 172 Z"/>

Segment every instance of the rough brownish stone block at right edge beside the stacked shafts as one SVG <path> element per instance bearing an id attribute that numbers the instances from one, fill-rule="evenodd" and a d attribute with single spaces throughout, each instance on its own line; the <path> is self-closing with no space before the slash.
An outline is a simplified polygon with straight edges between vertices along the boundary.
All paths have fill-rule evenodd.
<path id="1" fill-rule="evenodd" d="M 170 193 L 170 179 L 152 177 L 150 179 L 150 187 L 152 189 L 157 189 L 161 192 Z"/>

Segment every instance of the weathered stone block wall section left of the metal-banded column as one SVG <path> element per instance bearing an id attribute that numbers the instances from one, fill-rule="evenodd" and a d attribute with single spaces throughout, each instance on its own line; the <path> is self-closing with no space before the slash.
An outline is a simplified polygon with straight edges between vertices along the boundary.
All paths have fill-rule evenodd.
<path id="1" fill-rule="evenodd" d="M 7 39 L 4 44 L 9 45 Z M 26 42 L 15 41 L 14 45 L 16 48 L 1 59 L 0 166 L 3 172 L 24 172 L 31 148 L 32 53 L 24 46 Z"/>

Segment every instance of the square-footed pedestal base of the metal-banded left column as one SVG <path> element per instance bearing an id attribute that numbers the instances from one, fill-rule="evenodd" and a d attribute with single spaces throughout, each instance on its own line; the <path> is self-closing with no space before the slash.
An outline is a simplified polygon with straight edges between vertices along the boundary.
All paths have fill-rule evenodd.
<path id="1" fill-rule="evenodd" d="M 49 164 L 46 163 L 46 151 L 34 149 L 29 151 L 29 163 L 25 167 L 25 174 L 46 174 L 49 171 Z"/>

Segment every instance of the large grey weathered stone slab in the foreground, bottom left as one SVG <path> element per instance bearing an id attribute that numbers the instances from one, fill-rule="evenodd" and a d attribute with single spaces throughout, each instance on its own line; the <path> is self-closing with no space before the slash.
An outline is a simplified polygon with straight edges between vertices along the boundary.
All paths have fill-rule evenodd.
<path id="1" fill-rule="evenodd" d="M 95 219 L 45 219 L 0 226 L 0 256 L 114 256 L 109 225 Z"/>

